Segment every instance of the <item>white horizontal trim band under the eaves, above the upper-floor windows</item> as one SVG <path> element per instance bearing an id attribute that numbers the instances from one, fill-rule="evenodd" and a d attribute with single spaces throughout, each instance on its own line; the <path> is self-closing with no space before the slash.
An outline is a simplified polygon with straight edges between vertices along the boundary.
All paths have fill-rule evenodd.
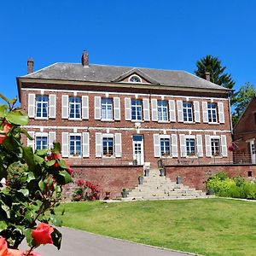
<path id="1" fill-rule="evenodd" d="M 34 88 L 22 88 L 21 90 L 35 90 L 35 91 L 41 91 L 41 89 L 34 89 Z M 57 92 L 69 92 L 69 93 L 72 93 L 71 90 L 45 90 L 45 91 L 57 91 Z M 82 94 L 102 94 L 102 95 L 105 95 L 106 94 L 106 91 L 95 91 L 95 90 L 77 90 L 79 93 L 82 93 Z M 128 93 L 128 92 L 111 92 L 109 93 L 109 97 L 111 97 L 111 95 L 124 95 L 124 96 L 136 96 L 138 95 L 137 93 Z M 165 97 L 165 100 L 168 100 L 168 99 L 172 99 L 172 98 L 183 98 L 183 99 L 186 99 L 187 96 L 174 96 L 174 95 L 160 95 L 160 94 L 148 94 L 148 93 L 142 93 L 142 94 L 139 94 L 138 95 L 139 97 L 141 96 L 154 96 L 154 97 L 161 97 L 161 96 L 164 96 Z M 189 100 L 193 101 L 193 99 L 204 99 L 204 100 L 213 100 L 213 101 L 228 101 L 229 99 L 228 98 L 217 98 L 217 97 L 201 97 L 201 96 L 190 96 L 189 97 Z"/>

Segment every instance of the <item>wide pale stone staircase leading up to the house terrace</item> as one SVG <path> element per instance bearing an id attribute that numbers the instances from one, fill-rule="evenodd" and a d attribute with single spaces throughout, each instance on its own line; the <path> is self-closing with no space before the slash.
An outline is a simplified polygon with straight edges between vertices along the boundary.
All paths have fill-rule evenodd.
<path id="1" fill-rule="evenodd" d="M 158 169 L 151 169 L 149 176 L 144 177 L 143 184 L 138 184 L 135 189 L 129 191 L 123 201 L 133 200 L 160 200 L 183 198 L 207 198 L 205 192 L 189 188 L 183 184 L 177 184 L 166 176 L 160 176 Z"/>

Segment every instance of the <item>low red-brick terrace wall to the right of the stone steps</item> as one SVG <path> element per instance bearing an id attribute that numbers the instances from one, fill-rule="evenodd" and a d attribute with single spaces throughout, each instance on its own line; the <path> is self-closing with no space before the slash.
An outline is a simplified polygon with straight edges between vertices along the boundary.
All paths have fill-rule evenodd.
<path id="1" fill-rule="evenodd" d="M 182 183 L 195 189 L 206 190 L 208 177 L 218 172 L 226 172 L 229 177 L 247 177 L 247 172 L 251 171 L 256 177 L 256 166 L 252 165 L 214 165 L 214 166 L 166 166 L 166 177 L 176 181 L 176 177 L 182 177 Z"/>

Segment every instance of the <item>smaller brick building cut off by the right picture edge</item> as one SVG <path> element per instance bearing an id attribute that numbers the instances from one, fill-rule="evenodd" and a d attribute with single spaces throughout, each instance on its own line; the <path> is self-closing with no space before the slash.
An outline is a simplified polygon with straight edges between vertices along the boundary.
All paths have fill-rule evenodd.
<path id="1" fill-rule="evenodd" d="M 253 96 L 247 109 L 234 127 L 236 162 L 256 164 L 256 97 Z"/>

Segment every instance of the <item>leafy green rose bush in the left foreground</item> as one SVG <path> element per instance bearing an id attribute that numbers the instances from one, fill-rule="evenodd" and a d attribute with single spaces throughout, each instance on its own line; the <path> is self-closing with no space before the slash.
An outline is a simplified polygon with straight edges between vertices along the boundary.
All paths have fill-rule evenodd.
<path id="1" fill-rule="evenodd" d="M 72 181 L 71 171 L 64 160 L 55 164 L 53 156 L 60 153 L 59 143 L 52 150 L 35 153 L 23 146 L 21 134 L 31 139 L 20 127 L 27 125 L 28 117 L 14 107 L 16 99 L 0 97 L 7 103 L 0 105 L 0 180 L 6 179 L 6 186 L 0 187 L 0 236 L 12 248 L 19 247 L 26 237 L 32 247 L 32 229 L 38 221 L 61 224 L 55 218 L 55 207 L 61 200 L 61 186 Z M 55 229 L 52 236 L 59 248 L 61 233 Z"/>

